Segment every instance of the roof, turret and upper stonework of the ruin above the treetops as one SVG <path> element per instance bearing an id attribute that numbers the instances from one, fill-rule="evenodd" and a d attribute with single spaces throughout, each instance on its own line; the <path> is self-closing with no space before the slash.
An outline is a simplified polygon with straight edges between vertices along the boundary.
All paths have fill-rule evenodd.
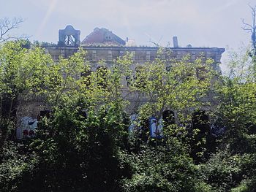
<path id="1" fill-rule="evenodd" d="M 78 51 L 78 47 L 83 47 L 87 51 L 87 60 L 92 66 L 97 66 L 97 62 L 105 60 L 111 63 L 113 59 L 128 53 L 134 53 L 135 64 L 143 64 L 148 61 L 154 61 L 157 57 L 159 47 L 135 46 L 135 43 L 126 39 L 124 41 L 120 37 L 108 31 L 106 28 L 94 28 L 83 41 L 80 43 L 80 31 L 75 30 L 72 26 L 59 30 L 59 42 L 56 46 L 45 47 L 47 52 L 52 55 L 55 61 L 59 56 L 69 57 Z M 171 51 L 171 58 L 181 59 L 184 55 L 190 55 L 191 61 L 196 58 L 212 58 L 214 60 L 214 69 L 220 72 L 219 64 L 224 48 L 217 47 L 178 47 L 177 37 L 173 37 L 173 47 L 168 47 Z M 165 55 L 162 55 L 165 59 Z"/>

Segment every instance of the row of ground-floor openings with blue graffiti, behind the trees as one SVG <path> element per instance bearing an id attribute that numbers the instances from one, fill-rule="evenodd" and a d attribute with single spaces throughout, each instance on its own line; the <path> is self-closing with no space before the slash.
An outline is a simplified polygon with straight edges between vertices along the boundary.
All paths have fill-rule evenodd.
<path id="1" fill-rule="evenodd" d="M 81 110 L 79 112 L 80 117 L 84 119 L 87 118 L 86 110 Z M 33 119 L 30 117 L 23 117 L 21 118 L 20 127 L 17 129 L 16 137 L 17 139 L 28 139 L 35 137 L 38 122 L 42 120 L 42 118 L 50 118 L 50 110 L 40 111 L 37 119 Z M 143 130 L 149 131 L 150 137 L 152 138 L 162 138 L 164 137 L 163 130 L 164 128 L 176 125 L 176 118 L 175 112 L 172 110 L 165 110 L 162 112 L 162 117 L 157 120 L 157 118 L 151 116 L 148 120 L 143 120 L 140 123 L 138 122 L 138 115 L 134 114 L 131 115 L 129 118 L 130 125 L 129 125 L 129 132 Z M 138 127 L 139 123 L 139 127 Z M 214 137 L 217 137 L 225 131 L 225 126 L 221 119 L 215 120 L 213 123 L 210 123 L 210 119 L 206 114 L 206 111 L 200 110 L 194 112 L 192 115 L 191 122 L 187 122 L 186 125 L 178 124 L 178 126 L 186 127 L 188 134 L 192 134 L 192 130 L 197 128 L 200 130 L 200 134 L 211 134 Z"/>

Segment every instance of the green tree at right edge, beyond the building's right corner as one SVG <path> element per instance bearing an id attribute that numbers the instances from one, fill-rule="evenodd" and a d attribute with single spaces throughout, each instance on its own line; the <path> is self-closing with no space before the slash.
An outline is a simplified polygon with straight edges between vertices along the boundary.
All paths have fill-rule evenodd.
<path id="1" fill-rule="evenodd" d="M 217 76 L 213 87 L 215 107 L 211 117 L 218 120 L 222 136 L 217 153 L 200 164 L 203 181 L 218 191 L 255 190 L 255 76 L 253 62 L 244 55 L 230 55 L 230 74 Z"/>

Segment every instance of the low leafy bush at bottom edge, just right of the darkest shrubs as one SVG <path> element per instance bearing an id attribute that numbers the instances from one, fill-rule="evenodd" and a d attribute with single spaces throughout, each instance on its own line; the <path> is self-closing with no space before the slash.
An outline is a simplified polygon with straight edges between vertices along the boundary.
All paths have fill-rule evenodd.
<path id="1" fill-rule="evenodd" d="M 203 185 L 197 180 L 197 167 L 176 139 L 165 146 L 143 145 L 139 153 L 123 158 L 133 173 L 123 180 L 124 191 L 197 191 L 197 185 Z"/>

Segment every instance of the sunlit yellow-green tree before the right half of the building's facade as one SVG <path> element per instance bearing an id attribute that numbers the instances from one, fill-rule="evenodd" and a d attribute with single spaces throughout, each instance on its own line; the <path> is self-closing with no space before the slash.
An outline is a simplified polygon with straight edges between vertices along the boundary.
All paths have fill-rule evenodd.
<path id="1" fill-rule="evenodd" d="M 167 55 L 165 59 L 161 58 L 163 54 Z M 203 155 L 203 149 L 206 147 L 206 133 L 196 126 L 190 128 L 188 133 L 188 127 L 192 124 L 192 114 L 208 106 L 206 98 L 214 77 L 212 61 L 202 57 L 192 62 L 189 55 L 178 61 L 168 55 L 170 55 L 168 50 L 160 50 L 155 61 L 138 66 L 135 77 L 129 79 L 130 91 L 138 96 L 138 106 L 134 111 L 138 113 L 135 129 L 140 134 L 143 134 L 141 127 L 149 131 L 148 118 L 152 117 L 151 119 L 156 121 L 154 123 L 156 128 L 153 131 L 156 135 L 151 137 L 155 138 L 150 139 L 150 134 L 146 133 L 144 140 L 147 142 L 154 140 L 155 145 L 158 145 L 162 140 L 161 129 L 163 129 L 166 138 L 177 138 L 178 135 L 187 140 L 184 146 L 189 150 L 192 147 L 189 145 L 193 145 L 192 148 L 197 146 L 192 140 L 197 140 L 196 143 L 200 143 L 201 147 L 192 153 L 194 157 L 200 156 Z M 132 75 L 129 74 L 129 77 Z M 210 135 L 209 128 L 206 132 Z M 199 134 L 202 136 L 199 137 Z M 188 135 L 190 136 L 187 137 Z M 189 139 L 192 142 L 190 144 Z"/>

